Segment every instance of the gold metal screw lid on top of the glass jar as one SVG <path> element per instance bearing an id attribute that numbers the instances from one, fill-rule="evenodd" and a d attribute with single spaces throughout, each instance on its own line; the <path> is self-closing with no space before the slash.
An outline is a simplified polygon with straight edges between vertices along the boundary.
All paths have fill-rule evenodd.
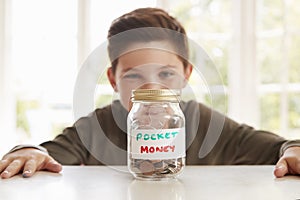
<path id="1" fill-rule="evenodd" d="M 131 92 L 131 100 L 180 102 L 180 90 L 137 89 Z"/>

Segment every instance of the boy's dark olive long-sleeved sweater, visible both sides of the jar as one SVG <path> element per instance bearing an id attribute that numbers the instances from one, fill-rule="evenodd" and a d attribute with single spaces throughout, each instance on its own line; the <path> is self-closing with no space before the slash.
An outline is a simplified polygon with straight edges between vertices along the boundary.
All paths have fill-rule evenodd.
<path id="1" fill-rule="evenodd" d="M 181 108 L 186 118 L 187 165 L 275 164 L 284 149 L 300 146 L 300 141 L 238 124 L 195 101 L 182 102 Z M 127 115 L 114 101 L 41 146 L 64 165 L 125 165 Z"/>

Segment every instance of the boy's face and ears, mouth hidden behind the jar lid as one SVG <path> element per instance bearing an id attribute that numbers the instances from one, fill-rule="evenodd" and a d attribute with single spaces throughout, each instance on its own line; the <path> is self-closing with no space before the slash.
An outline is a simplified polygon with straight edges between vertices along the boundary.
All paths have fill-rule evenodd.
<path id="1" fill-rule="evenodd" d="M 118 58 L 115 74 L 107 75 L 122 105 L 129 110 L 131 91 L 142 89 L 182 89 L 192 72 L 184 68 L 182 60 L 173 53 L 160 49 L 139 49 Z"/>

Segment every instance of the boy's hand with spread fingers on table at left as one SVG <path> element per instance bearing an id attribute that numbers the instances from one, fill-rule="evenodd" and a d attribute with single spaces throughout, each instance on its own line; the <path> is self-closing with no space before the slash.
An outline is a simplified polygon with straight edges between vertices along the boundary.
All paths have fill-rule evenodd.
<path id="1" fill-rule="evenodd" d="M 0 160 L 1 178 L 10 178 L 20 172 L 27 178 L 39 170 L 58 173 L 62 170 L 62 166 L 48 154 L 35 148 L 14 151 Z"/>

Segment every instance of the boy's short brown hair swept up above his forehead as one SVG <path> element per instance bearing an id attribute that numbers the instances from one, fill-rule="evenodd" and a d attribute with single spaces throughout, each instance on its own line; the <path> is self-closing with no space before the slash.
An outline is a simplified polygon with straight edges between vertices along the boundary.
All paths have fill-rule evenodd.
<path id="1" fill-rule="evenodd" d="M 156 31 L 143 29 L 149 27 L 156 28 Z M 157 31 L 157 28 L 161 29 Z M 125 37 L 113 37 L 132 30 L 135 32 L 126 34 Z M 172 32 L 171 36 L 170 32 Z M 175 36 L 174 33 L 177 35 Z M 112 22 L 107 38 L 108 54 L 113 73 L 115 73 L 121 52 L 133 42 L 139 41 L 169 41 L 175 47 L 176 52 L 179 52 L 178 56 L 183 65 L 186 67 L 188 64 L 189 53 L 185 29 L 174 17 L 159 8 L 139 8 L 120 16 Z"/>

